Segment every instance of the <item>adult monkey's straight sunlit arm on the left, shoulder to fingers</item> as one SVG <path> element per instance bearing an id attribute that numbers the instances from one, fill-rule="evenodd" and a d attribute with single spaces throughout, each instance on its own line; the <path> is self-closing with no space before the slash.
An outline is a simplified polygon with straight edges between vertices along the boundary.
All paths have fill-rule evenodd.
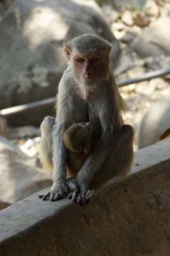
<path id="1" fill-rule="evenodd" d="M 57 116 L 55 125 L 53 126 L 53 186 L 50 191 L 44 193 L 40 197 L 43 200 L 59 200 L 64 195 L 69 194 L 69 187 L 66 182 L 66 147 L 63 141 L 64 131 L 73 124 L 74 120 L 74 104 L 71 102 L 73 97 L 70 95 L 66 82 L 60 81 L 59 93 L 57 97 Z"/>

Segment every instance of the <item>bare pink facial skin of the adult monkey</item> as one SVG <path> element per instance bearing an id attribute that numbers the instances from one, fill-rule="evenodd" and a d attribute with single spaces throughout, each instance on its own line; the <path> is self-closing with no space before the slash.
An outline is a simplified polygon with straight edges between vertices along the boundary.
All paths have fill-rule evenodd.
<path id="1" fill-rule="evenodd" d="M 76 74 L 83 80 L 94 80 L 99 77 L 103 67 L 103 55 L 97 54 L 76 54 L 73 58 Z"/>

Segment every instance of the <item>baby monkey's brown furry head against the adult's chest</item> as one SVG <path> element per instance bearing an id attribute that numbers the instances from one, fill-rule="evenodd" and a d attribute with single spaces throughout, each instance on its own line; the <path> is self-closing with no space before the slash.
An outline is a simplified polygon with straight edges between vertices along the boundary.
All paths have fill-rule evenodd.
<path id="1" fill-rule="evenodd" d="M 92 124 L 78 123 L 71 125 L 63 136 L 64 144 L 67 150 L 72 153 L 88 154 L 90 151 L 90 141 L 92 133 Z"/>

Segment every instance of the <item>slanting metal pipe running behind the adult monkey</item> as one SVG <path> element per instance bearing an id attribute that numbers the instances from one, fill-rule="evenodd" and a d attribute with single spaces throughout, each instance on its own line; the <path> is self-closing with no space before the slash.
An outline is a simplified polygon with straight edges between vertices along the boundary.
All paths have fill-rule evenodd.
<path id="1" fill-rule="evenodd" d="M 135 77 L 132 79 L 125 79 L 124 81 L 118 81 L 117 86 L 122 87 L 122 86 L 125 86 L 128 84 L 139 83 L 141 81 L 149 80 L 149 79 L 152 79 L 155 77 L 166 76 L 167 74 L 170 74 L 170 68 L 167 70 L 157 70 L 157 71 L 153 71 L 153 72 L 148 72 L 146 74 L 143 74 L 143 76 Z M 35 102 L 23 104 L 20 106 L 14 106 L 11 108 L 1 109 L 0 116 L 8 118 L 12 115 L 15 115 L 18 113 L 23 113 L 24 111 L 27 111 L 29 109 L 36 109 L 41 106 L 48 106 L 48 105 L 55 104 L 55 102 L 56 102 L 56 97 L 52 97 L 52 98 L 48 98 L 45 100 L 38 100 Z"/>

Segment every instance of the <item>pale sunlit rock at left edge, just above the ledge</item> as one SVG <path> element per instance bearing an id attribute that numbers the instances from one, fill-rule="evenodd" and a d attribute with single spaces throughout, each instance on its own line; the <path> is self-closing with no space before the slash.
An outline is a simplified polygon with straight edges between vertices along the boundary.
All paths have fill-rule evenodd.
<path id="1" fill-rule="evenodd" d="M 38 168 L 36 158 L 0 136 L 0 209 L 52 185 L 51 173 Z"/>

